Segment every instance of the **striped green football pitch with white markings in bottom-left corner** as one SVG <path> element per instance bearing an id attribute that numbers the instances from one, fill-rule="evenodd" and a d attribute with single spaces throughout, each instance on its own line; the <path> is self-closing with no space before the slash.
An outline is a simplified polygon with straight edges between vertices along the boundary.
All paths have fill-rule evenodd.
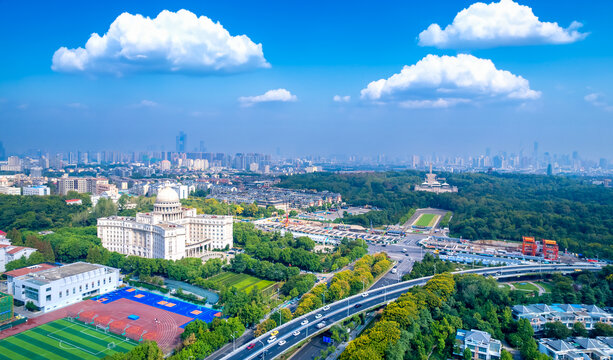
<path id="1" fill-rule="evenodd" d="M 136 345 L 93 326 L 59 319 L 0 340 L 0 359 L 95 360 Z"/>

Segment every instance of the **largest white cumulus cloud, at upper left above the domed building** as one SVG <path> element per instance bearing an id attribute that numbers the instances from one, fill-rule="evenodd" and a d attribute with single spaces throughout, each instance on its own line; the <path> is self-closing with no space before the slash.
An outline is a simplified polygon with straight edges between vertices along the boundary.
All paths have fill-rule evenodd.
<path id="1" fill-rule="evenodd" d="M 154 19 L 123 13 L 106 34 L 85 47 L 59 48 L 51 68 L 60 72 L 231 73 L 270 67 L 262 45 L 232 36 L 219 23 L 188 10 L 164 10 Z"/>

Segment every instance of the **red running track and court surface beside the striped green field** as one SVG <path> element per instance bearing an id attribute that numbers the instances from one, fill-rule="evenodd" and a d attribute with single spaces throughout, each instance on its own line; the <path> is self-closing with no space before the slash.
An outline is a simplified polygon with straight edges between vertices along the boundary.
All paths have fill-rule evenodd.
<path id="1" fill-rule="evenodd" d="M 77 313 L 79 313 L 80 318 L 87 318 L 88 321 L 92 321 L 93 318 L 93 321 L 96 323 L 108 324 L 110 322 L 110 327 L 115 330 L 118 328 L 126 329 L 127 327 L 126 336 L 130 338 L 142 336 L 146 340 L 155 340 L 164 352 L 171 351 L 180 343 L 180 336 L 183 332 L 180 326 L 192 320 L 192 318 L 137 303 L 129 299 L 119 299 L 109 304 L 85 300 L 35 318 L 30 318 L 24 324 L 6 329 L 0 332 L 0 339 L 57 319 L 68 316 L 74 317 Z M 138 315 L 140 318 L 138 320 L 128 319 L 128 316 L 132 314 Z M 133 329 L 130 330 L 131 327 Z M 143 332 L 145 332 L 144 335 Z"/>

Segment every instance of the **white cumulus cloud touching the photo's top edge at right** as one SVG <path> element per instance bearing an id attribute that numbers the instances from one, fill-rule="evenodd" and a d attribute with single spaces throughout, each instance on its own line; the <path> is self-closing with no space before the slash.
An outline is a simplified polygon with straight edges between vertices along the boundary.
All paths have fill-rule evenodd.
<path id="1" fill-rule="evenodd" d="M 430 25 L 419 34 L 419 45 L 438 48 L 495 47 L 505 45 L 567 44 L 588 34 L 577 29 L 573 21 L 568 28 L 556 22 L 542 22 L 532 8 L 513 0 L 497 3 L 474 3 L 460 11 L 453 22 L 441 29 Z"/>

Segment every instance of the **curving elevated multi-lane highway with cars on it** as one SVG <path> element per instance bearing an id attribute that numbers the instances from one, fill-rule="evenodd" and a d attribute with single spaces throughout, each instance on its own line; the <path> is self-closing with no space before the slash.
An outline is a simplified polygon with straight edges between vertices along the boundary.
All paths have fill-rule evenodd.
<path id="1" fill-rule="evenodd" d="M 505 279 L 529 274 L 574 273 L 584 270 L 597 271 L 600 270 L 600 266 L 593 264 L 512 265 L 463 270 L 457 271 L 454 274 L 479 274 L 492 276 L 497 279 Z M 250 343 L 237 348 L 232 353 L 224 356 L 222 360 L 273 359 L 292 346 L 320 331 L 328 329 L 335 323 L 364 310 L 385 305 L 400 297 L 401 294 L 404 294 L 410 288 L 425 285 L 430 279 L 432 279 L 432 276 L 403 281 L 328 304 L 325 307 L 326 310 L 322 307 L 278 326 Z M 307 323 L 304 323 L 305 320 Z M 278 334 L 276 335 L 276 340 L 269 343 L 268 339 L 273 331 L 278 331 Z M 296 332 L 298 333 L 296 334 Z M 279 345 L 282 340 L 285 341 L 285 344 Z M 249 344 L 255 344 L 255 347 L 249 350 L 247 349 Z"/>

